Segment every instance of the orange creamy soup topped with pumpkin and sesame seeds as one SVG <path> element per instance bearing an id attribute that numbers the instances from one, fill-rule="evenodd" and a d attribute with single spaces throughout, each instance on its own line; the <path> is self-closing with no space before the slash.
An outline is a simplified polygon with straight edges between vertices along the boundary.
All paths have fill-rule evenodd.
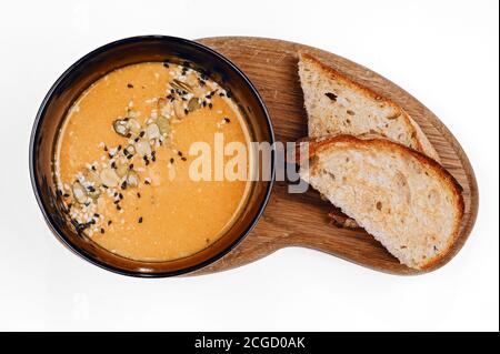
<path id="1" fill-rule="evenodd" d="M 101 78 L 73 103 L 57 144 L 56 180 L 73 224 L 138 261 L 206 249 L 238 218 L 251 188 L 248 179 L 192 179 L 192 144 L 213 148 L 216 135 L 250 143 L 229 92 L 207 75 L 147 62 Z"/>

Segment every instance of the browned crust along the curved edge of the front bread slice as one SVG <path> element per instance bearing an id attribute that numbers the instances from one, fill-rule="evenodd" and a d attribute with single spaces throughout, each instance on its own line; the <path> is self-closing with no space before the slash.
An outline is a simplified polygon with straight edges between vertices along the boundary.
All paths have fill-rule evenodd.
<path id="1" fill-rule="evenodd" d="M 330 148 L 337 143 L 350 144 L 353 148 L 373 148 L 376 150 L 386 150 L 388 152 L 399 152 L 401 154 L 410 154 L 414 159 L 417 159 L 420 163 L 422 163 L 428 169 L 434 171 L 438 176 L 442 180 L 442 182 L 451 190 L 452 195 L 454 198 L 454 205 L 457 208 L 457 214 L 453 220 L 453 232 L 449 237 L 449 242 L 447 244 L 446 251 L 439 253 L 437 256 L 429 259 L 428 262 L 421 264 L 419 266 L 420 270 L 426 270 L 432 267 L 437 263 L 439 263 L 443 257 L 446 257 L 453 249 L 453 244 L 456 243 L 459 234 L 461 220 L 464 213 L 464 202 L 462 196 L 462 188 L 457 182 L 457 180 L 438 162 L 424 155 L 421 152 L 414 151 L 410 148 L 407 148 L 402 144 L 396 143 L 393 141 L 387 139 L 376 139 L 376 138 L 357 138 L 353 135 L 334 135 L 334 136 L 326 136 L 320 139 L 309 140 L 309 150 L 308 156 L 300 156 L 300 162 L 303 162 L 306 159 L 313 158 L 317 153 L 321 152 L 324 149 Z"/>

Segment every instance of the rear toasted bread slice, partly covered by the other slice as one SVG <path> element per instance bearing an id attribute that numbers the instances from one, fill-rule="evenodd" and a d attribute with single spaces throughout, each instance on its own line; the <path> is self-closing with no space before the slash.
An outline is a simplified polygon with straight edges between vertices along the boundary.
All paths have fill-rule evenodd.
<path id="1" fill-rule="evenodd" d="M 299 57 L 309 136 L 379 134 L 439 162 L 432 144 L 403 109 L 312 55 Z"/>

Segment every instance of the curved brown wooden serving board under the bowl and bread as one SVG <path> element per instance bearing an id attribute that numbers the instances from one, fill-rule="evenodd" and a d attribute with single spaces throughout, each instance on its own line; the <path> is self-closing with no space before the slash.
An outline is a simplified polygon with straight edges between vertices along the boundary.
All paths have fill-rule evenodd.
<path id="1" fill-rule="evenodd" d="M 422 128 L 447 168 L 463 188 L 466 212 L 453 252 L 434 267 L 448 263 L 468 239 L 478 213 L 478 186 L 462 148 L 422 103 L 408 92 L 352 61 L 339 55 L 281 40 L 219 37 L 200 39 L 234 62 L 259 90 L 274 125 L 277 141 L 307 136 L 307 114 L 297 73 L 297 52 L 307 51 L 358 82 L 400 104 Z M 393 274 L 421 273 L 401 265 L 397 259 L 363 231 L 330 224 L 331 204 L 311 189 L 289 194 L 286 182 L 277 182 L 269 204 L 254 230 L 229 254 L 194 274 L 213 273 L 253 262 L 287 246 L 323 251 L 347 261 Z M 427 271 L 427 272 L 428 272 Z"/>

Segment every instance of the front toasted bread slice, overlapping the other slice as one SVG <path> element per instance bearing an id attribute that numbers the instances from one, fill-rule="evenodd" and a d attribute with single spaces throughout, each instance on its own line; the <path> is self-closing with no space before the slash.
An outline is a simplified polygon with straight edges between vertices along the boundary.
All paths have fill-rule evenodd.
<path id="1" fill-rule="evenodd" d="M 300 161 L 300 176 L 401 263 L 424 270 L 450 252 L 463 199 L 434 160 L 387 139 L 337 135 L 310 141 Z"/>

